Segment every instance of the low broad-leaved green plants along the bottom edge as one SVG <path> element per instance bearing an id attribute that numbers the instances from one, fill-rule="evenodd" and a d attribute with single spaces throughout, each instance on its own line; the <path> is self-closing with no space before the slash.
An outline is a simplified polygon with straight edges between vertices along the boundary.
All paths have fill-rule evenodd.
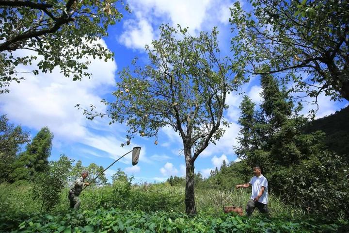
<path id="1" fill-rule="evenodd" d="M 57 216 L 37 215 L 13 220 L 0 216 L 0 231 L 12 233 L 32 232 L 345 232 L 348 221 L 326 224 L 322 219 L 247 218 L 233 215 L 189 217 L 185 214 L 141 211 L 102 210 L 69 212 Z"/>

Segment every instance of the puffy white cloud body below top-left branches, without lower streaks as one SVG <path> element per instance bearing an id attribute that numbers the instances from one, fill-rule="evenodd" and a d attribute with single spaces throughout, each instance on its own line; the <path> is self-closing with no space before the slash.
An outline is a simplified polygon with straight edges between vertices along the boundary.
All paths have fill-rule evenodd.
<path id="1" fill-rule="evenodd" d="M 100 42 L 104 44 L 102 40 Z M 30 71 L 32 68 L 18 67 L 17 70 Z M 88 120 L 74 106 L 77 103 L 82 106 L 94 104 L 104 111 L 105 106 L 99 103 L 99 95 L 103 94 L 100 90 L 102 86 L 115 84 L 116 64 L 111 60 L 94 60 L 89 71 L 94 76 L 80 82 L 63 77 L 58 69 L 37 76 L 27 74 L 21 83 L 11 83 L 10 93 L 0 99 L 1 111 L 11 120 L 35 130 L 48 126 L 56 139 L 79 141 L 88 133 Z"/>

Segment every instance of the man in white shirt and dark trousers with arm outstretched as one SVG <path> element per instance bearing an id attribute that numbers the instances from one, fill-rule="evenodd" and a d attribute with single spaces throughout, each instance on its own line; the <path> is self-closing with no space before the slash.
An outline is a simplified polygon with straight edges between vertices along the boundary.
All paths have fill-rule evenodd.
<path id="1" fill-rule="evenodd" d="M 251 216 L 257 207 L 262 214 L 269 215 L 268 211 L 268 181 L 261 173 L 260 166 L 254 166 L 254 177 L 249 183 L 238 184 L 236 188 L 247 188 L 252 185 L 252 195 L 247 201 L 246 214 Z"/>

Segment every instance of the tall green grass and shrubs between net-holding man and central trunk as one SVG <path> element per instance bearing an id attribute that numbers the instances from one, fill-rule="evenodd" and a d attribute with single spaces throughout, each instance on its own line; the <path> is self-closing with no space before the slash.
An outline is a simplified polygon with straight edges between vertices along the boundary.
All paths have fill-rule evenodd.
<path id="1" fill-rule="evenodd" d="M 88 188 L 81 193 L 80 199 L 81 209 L 184 211 L 184 193 L 168 185 L 131 186 L 128 182 L 117 181 L 111 186 Z"/>

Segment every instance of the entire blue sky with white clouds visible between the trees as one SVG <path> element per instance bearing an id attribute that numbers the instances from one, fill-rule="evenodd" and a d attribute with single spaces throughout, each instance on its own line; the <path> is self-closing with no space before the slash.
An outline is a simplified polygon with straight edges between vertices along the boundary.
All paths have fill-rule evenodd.
<path id="1" fill-rule="evenodd" d="M 131 165 L 130 156 L 123 159 L 107 170 L 110 177 L 117 168 L 127 174 L 134 174 L 135 182 L 161 182 L 171 175 L 185 175 L 185 161 L 180 153 L 182 143 L 179 136 L 170 128 L 163 128 L 159 133 L 159 144 L 155 145 L 154 138 L 136 137 L 131 145 L 120 147 L 125 142 L 127 127 L 121 124 L 108 124 L 107 118 L 87 120 L 82 112 L 74 106 L 94 104 L 98 110 L 105 110 L 100 104 L 103 98 L 110 99 L 111 91 L 118 82 L 117 72 L 130 65 L 134 57 L 146 61 L 144 45 L 150 44 L 158 38 L 159 25 L 180 24 L 189 27 L 192 35 L 200 31 L 210 31 L 218 27 L 220 48 L 222 53 L 229 54 L 232 33 L 228 18 L 230 0 L 127 0 L 132 9 L 131 14 L 125 14 L 124 19 L 110 27 L 109 36 L 100 43 L 115 53 L 114 61 L 104 62 L 92 60 L 89 71 L 93 73 L 91 79 L 73 82 L 64 78 L 58 70 L 50 74 L 29 74 L 22 83 L 12 83 L 10 93 L 0 98 L 0 114 L 6 114 L 11 123 L 20 124 L 35 135 L 42 127 L 48 126 L 54 134 L 50 160 L 57 160 L 60 154 L 69 158 L 81 160 L 84 166 L 95 163 L 109 166 L 114 159 L 131 150 L 133 146 L 141 146 L 140 162 Z M 247 3 L 241 2 L 243 7 L 249 8 Z M 16 51 L 20 55 L 28 51 Z M 31 67 L 19 67 L 29 71 Z M 242 86 L 242 90 L 254 102 L 260 102 L 259 77 L 254 77 L 250 83 Z M 224 136 L 217 145 L 210 145 L 196 160 L 195 170 L 205 177 L 211 169 L 220 167 L 226 162 L 237 159 L 233 146 L 237 145 L 236 137 L 239 126 L 238 105 L 242 97 L 231 93 L 227 98 L 229 108 L 224 117 L 231 122 Z M 333 102 L 330 97 L 320 96 L 317 117 L 334 113 L 348 105 L 348 101 Z M 315 108 L 305 105 L 303 113 Z"/>

